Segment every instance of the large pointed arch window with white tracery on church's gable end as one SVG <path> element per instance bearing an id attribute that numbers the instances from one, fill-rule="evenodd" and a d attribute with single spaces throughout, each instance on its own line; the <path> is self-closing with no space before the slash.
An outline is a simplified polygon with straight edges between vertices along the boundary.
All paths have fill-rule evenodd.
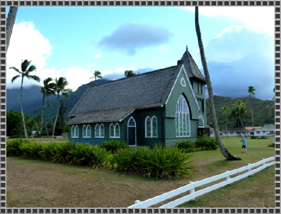
<path id="1" fill-rule="evenodd" d="M 177 102 L 175 122 L 177 137 L 190 136 L 189 108 L 183 95 L 180 96 Z"/>

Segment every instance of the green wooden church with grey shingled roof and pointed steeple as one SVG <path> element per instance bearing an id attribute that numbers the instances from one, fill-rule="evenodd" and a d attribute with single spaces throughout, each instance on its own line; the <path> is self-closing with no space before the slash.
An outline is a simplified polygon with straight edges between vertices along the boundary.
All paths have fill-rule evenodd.
<path id="1" fill-rule="evenodd" d="M 69 113 L 69 140 L 174 145 L 206 127 L 205 78 L 186 48 L 177 65 L 89 86 Z"/>

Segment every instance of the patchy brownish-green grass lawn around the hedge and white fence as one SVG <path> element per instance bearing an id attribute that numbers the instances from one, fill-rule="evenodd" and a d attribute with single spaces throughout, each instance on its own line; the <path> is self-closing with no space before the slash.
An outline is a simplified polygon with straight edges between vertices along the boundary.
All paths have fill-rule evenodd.
<path id="1" fill-rule="evenodd" d="M 7 207 L 127 207 L 206 177 L 274 156 L 268 139 L 247 138 L 248 153 L 241 153 L 241 138 L 222 141 L 242 158 L 226 161 L 220 150 L 192 153 L 192 178 L 155 180 L 122 175 L 107 169 L 68 166 L 23 157 L 7 158 Z M 258 189 L 259 188 L 259 189 Z M 182 195 L 181 195 L 182 196 Z M 175 199 L 175 198 L 173 198 Z M 196 198 L 186 207 L 274 207 L 274 166 L 219 190 Z"/>

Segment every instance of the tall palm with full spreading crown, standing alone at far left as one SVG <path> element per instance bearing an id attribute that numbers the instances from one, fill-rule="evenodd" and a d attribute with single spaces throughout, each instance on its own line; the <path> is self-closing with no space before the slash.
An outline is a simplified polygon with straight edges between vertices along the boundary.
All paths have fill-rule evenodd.
<path id="1" fill-rule="evenodd" d="M 24 114 L 23 114 L 23 108 L 22 108 L 22 83 L 23 78 L 33 79 L 37 82 L 40 82 L 40 78 L 35 75 L 30 75 L 31 72 L 36 71 L 36 67 L 34 65 L 30 65 L 31 61 L 28 61 L 25 59 L 23 62 L 21 62 L 21 71 L 17 69 L 16 67 L 12 66 L 9 69 L 13 69 L 14 71 L 18 72 L 20 75 L 17 75 L 12 78 L 12 83 L 17 79 L 21 78 L 21 85 L 20 85 L 20 110 L 21 110 L 21 118 L 23 123 L 23 129 L 24 129 L 24 136 L 27 139 L 27 132 L 25 127 L 25 121 L 24 121 Z"/>

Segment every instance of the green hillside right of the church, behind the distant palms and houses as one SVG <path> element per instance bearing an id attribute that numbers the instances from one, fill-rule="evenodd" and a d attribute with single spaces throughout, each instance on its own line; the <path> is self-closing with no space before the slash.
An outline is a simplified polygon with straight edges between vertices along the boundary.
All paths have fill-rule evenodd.
<path id="1" fill-rule="evenodd" d="M 232 108 L 232 106 L 238 101 L 243 101 L 247 109 L 250 112 L 250 98 L 249 97 L 239 97 L 239 98 L 231 98 L 231 97 L 221 97 L 214 96 L 216 113 L 218 117 L 218 123 L 220 128 L 225 127 L 224 117 L 221 114 L 221 108 L 223 106 L 228 106 Z M 254 113 L 254 126 L 263 126 L 265 124 L 274 124 L 274 100 L 262 100 L 257 98 L 252 98 L 252 107 Z M 252 126 L 251 113 L 249 113 L 246 117 L 242 118 L 244 126 Z M 212 117 L 210 114 L 210 108 L 207 105 L 207 123 L 212 123 Z M 234 126 L 234 120 L 228 120 L 228 126 Z"/>

